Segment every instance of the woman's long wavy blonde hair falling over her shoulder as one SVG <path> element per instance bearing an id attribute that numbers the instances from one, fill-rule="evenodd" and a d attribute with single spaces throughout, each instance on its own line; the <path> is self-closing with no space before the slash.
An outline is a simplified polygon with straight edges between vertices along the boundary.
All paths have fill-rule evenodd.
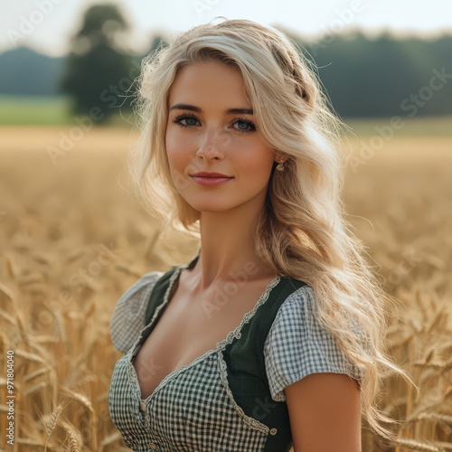
<path id="1" fill-rule="evenodd" d="M 287 158 L 285 170 L 271 175 L 255 231 L 257 254 L 277 274 L 313 287 L 320 325 L 334 334 L 358 369 L 363 416 L 375 432 L 394 438 L 380 425 L 394 420 L 375 406 L 381 379 L 396 373 L 413 383 L 385 353 L 385 301 L 390 298 L 345 220 L 341 193 L 346 162 L 338 151 L 342 123 L 327 108 L 310 63 L 285 34 L 247 20 L 202 24 L 174 36 L 145 59 L 137 99 L 142 135 L 129 167 L 146 207 L 165 228 L 199 231 L 199 212 L 172 181 L 165 127 L 168 93 L 178 72 L 205 61 L 240 71 L 260 133 Z"/>

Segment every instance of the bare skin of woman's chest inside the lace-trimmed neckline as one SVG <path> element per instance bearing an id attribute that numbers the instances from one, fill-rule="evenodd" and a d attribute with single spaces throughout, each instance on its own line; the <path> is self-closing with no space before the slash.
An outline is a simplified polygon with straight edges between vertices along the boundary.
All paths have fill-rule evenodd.
<path id="1" fill-rule="evenodd" d="M 142 398 L 165 376 L 215 349 L 256 305 L 259 291 L 255 285 L 242 293 L 233 294 L 230 288 L 229 295 L 223 289 L 189 297 L 177 290 L 133 362 Z"/>

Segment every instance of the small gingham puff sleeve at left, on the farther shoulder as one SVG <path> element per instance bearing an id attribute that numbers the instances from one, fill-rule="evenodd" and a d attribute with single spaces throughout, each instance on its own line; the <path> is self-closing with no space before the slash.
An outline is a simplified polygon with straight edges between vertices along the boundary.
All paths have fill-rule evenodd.
<path id="1" fill-rule="evenodd" d="M 110 336 L 119 352 L 126 353 L 146 326 L 147 301 L 155 283 L 162 275 L 160 271 L 146 273 L 118 299 L 110 318 Z"/>

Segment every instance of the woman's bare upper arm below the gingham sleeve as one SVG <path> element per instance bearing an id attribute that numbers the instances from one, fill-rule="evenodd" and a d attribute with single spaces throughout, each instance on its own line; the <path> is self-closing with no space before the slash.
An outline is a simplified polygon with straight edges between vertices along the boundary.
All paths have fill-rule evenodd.
<path id="1" fill-rule="evenodd" d="M 312 373 L 287 386 L 294 452 L 361 452 L 361 392 L 343 373 Z"/>

